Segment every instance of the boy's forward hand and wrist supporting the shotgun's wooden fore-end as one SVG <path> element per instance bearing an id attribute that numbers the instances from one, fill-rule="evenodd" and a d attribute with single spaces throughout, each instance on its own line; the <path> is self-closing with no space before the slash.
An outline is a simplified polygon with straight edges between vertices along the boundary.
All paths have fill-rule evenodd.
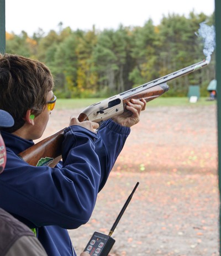
<path id="1" fill-rule="evenodd" d="M 144 99 L 128 101 L 126 109 L 129 111 L 124 112 L 118 116 L 112 117 L 114 122 L 122 126 L 131 127 L 140 121 L 140 112 L 145 110 L 146 101 Z"/>

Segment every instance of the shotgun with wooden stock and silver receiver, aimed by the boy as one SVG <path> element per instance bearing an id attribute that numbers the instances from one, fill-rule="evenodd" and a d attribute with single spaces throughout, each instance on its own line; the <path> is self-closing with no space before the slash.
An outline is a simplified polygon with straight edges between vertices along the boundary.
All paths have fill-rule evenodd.
<path id="1" fill-rule="evenodd" d="M 169 90 L 167 81 L 190 74 L 208 64 L 209 62 L 207 60 L 203 60 L 202 62 L 187 66 L 149 83 L 124 91 L 124 93 L 92 104 L 80 113 L 78 120 L 80 122 L 86 120 L 101 122 L 115 115 L 122 114 L 128 111 L 125 109 L 125 106 L 131 99 L 144 98 L 146 102 L 154 100 Z M 54 167 L 61 160 L 61 145 L 64 140 L 64 130 L 65 128 L 29 147 L 27 150 L 20 152 L 18 156 L 29 163 L 29 165 Z"/>

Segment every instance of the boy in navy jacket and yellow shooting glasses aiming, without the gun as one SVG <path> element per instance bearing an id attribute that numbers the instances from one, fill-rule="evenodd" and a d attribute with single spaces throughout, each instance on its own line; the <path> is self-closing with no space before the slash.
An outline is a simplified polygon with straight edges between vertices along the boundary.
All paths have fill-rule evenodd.
<path id="1" fill-rule="evenodd" d="M 97 194 L 146 102 L 131 100 L 130 115 L 104 121 L 97 133 L 97 123 L 71 116 L 62 162 L 54 168 L 30 166 L 17 155 L 43 134 L 56 101 L 53 88 L 43 63 L 0 55 L 0 109 L 14 119 L 14 125 L 2 131 L 7 163 L 0 175 L 0 207 L 33 229 L 49 256 L 70 256 L 76 254 L 66 229 L 90 219 Z"/>

